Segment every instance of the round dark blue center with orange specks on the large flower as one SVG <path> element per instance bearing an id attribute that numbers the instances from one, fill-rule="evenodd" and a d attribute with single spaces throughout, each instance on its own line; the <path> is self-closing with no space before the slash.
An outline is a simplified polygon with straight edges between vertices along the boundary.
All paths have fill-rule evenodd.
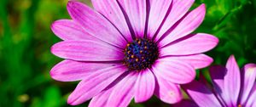
<path id="1" fill-rule="evenodd" d="M 145 38 L 129 42 L 124 53 L 124 65 L 127 65 L 129 70 L 150 68 L 159 56 L 156 43 Z"/>

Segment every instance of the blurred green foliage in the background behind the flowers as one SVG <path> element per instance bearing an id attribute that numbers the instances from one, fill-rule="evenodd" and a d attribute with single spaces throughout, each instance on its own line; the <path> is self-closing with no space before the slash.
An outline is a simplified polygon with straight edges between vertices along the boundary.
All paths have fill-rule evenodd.
<path id="1" fill-rule="evenodd" d="M 90 0 L 83 1 L 91 6 Z M 207 15 L 195 32 L 219 38 L 217 48 L 207 54 L 214 64 L 224 65 L 230 54 L 238 64 L 256 63 L 256 1 L 196 0 L 205 3 Z M 77 82 L 55 82 L 49 70 L 61 59 L 49 48 L 61 41 L 50 31 L 54 20 L 69 19 L 67 0 L 0 1 L 0 106 L 69 106 L 67 96 Z M 207 69 L 202 70 L 207 76 Z M 79 106 L 86 106 L 84 103 Z M 168 106 L 153 97 L 131 107 Z"/>

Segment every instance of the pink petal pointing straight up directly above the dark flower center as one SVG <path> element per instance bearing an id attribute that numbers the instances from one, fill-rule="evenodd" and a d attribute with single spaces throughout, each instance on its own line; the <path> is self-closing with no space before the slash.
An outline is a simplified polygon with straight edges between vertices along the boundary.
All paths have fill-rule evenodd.
<path id="1" fill-rule="evenodd" d="M 137 38 L 144 36 L 147 14 L 147 0 L 118 0 L 131 22 Z"/>

